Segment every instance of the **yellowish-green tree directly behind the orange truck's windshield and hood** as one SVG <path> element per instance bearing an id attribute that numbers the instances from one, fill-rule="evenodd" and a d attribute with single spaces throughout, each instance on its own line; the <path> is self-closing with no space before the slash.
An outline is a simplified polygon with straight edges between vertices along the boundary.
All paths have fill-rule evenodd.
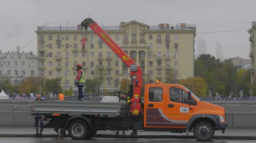
<path id="1" fill-rule="evenodd" d="M 198 97 L 206 97 L 207 91 L 209 91 L 205 79 L 200 76 L 181 79 L 180 84 L 187 87 L 189 90 L 192 91 L 192 93 L 196 94 Z"/>

